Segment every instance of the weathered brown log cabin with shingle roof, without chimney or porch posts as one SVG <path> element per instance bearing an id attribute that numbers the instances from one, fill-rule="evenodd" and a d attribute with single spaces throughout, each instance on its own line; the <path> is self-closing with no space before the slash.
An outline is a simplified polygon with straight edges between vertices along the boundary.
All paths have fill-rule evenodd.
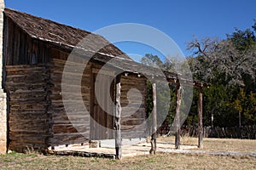
<path id="1" fill-rule="evenodd" d="M 9 150 L 22 151 L 27 146 L 46 149 L 61 144 L 84 143 L 90 139 L 113 139 L 112 132 L 95 127 L 102 125 L 113 129 L 114 120 L 113 115 L 102 111 L 97 104 L 94 92 L 96 74 L 108 59 L 115 56 L 122 56 L 123 64 L 133 61 L 99 35 L 9 8 L 4 10 L 3 29 L 3 87 L 8 94 L 9 104 Z M 95 52 L 84 69 L 81 92 L 89 113 L 71 111 L 73 122 L 70 122 L 61 98 L 62 72 L 65 64 L 68 65 L 66 61 L 73 47 L 88 34 L 90 42 L 85 44 L 85 48 L 90 51 L 94 51 L 94 46 L 102 42 L 109 45 Z M 73 64 L 78 65 L 75 62 Z M 70 72 L 71 77 L 75 77 L 75 74 L 76 71 Z M 109 82 L 111 76 L 113 72 L 109 68 L 108 74 L 102 77 L 102 83 L 113 83 Z M 79 84 L 74 86 L 79 88 Z M 122 75 L 121 86 L 121 105 L 127 105 L 125 96 L 131 88 L 140 89 L 143 95 L 146 93 L 146 79 L 136 75 Z M 106 93 L 108 89 L 104 89 L 105 87 L 97 90 Z M 114 86 L 110 90 L 110 94 L 114 96 Z M 71 104 L 76 104 L 76 99 L 70 101 Z M 102 103 L 110 106 L 110 102 L 112 101 L 102 95 Z M 95 125 L 91 125 L 90 117 L 97 122 Z M 122 119 L 122 135 L 131 135 L 125 134 L 125 128 L 137 126 L 145 118 L 143 104 L 133 115 Z M 80 132 L 76 126 L 81 129 Z"/>

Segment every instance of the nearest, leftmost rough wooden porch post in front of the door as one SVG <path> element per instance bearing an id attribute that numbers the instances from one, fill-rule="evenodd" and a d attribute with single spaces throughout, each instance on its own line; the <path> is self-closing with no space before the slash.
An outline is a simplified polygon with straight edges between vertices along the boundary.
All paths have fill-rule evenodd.
<path id="1" fill-rule="evenodd" d="M 114 129 L 115 129 L 115 158 L 122 159 L 122 137 L 121 137 L 121 76 L 116 77 L 115 84 L 115 116 L 114 116 Z"/>

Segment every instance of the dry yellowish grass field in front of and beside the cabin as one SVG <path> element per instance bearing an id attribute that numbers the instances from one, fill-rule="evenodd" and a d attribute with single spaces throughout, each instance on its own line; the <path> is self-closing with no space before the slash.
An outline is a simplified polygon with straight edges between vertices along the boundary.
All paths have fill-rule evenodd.
<path id="1" fill-rule="evenodd" d="M 160 139 L 170 141 L 172 138 Z M 172 140 L 173 141 L 173 140 Z M 197 140 L 182 138 L 183 144 Z M 204 139 L 203 150 L 256 152 L 256 140 Z M 125 157 L 122 161 L 75 156 L 11 153 L 0 156 L 0 169 L 256 169 L 256 157 L 197 154 L 157 154 Z"/>

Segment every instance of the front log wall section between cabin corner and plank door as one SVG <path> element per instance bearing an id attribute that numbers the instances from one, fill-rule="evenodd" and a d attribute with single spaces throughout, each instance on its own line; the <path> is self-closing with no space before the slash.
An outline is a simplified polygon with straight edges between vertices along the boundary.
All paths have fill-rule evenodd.
<path id="1" fill-rule="evenodd" d="M 50 68 L 50 82 L 53 84 L 51 88 L 52 94 L 51 106 L 49 107 L 49 115 L 52 115 L 52 138 L 49 139 L 51 146 L 62 144 L 81 144 L 89 140 L 90 127 L 90 65 L 84 69 L 81 87 L 77 84 L 69 84 L 81 88 L 84 105 L 88 112 L 79 111 L 78 109 L 68 111 L 65 110 L 61 96 L 61 78 L 65 64 L 78 65 L 78 63 L 66 62 L 68 52 L 58 48 L 52 48 L 52 66 Z M 77 76 L 77 71 L 69 71 L 69 76 L 72 78 Z M 72 81 L 69 81 L 72 83 Z M 64 84 L 65 85 L 65 84 Z M 73 99 L 70 99 L 70 105 L 76 105 L 79 94 L 71 93 Z M 72 121 L 70 120 L 72 119 Z M 79 128 L 79 131 L 77 130 Z"/>

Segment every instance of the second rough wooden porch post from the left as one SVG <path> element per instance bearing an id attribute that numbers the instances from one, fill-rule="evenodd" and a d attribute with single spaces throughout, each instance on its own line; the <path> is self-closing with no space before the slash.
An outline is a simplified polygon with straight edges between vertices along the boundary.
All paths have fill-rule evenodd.
<path id="1" fill-rule="evenodd" d="M 155 154 L 156 151 L 156 130 L 157 130 L 157 110 L 156 110 L 156 84 L 155 82 L 152 84 L 152 91 L 153 91 L 153 111 L 152 111 L 152 135 L 151 135 L 151 150 L 149 151 L 150 154 Z"/>

